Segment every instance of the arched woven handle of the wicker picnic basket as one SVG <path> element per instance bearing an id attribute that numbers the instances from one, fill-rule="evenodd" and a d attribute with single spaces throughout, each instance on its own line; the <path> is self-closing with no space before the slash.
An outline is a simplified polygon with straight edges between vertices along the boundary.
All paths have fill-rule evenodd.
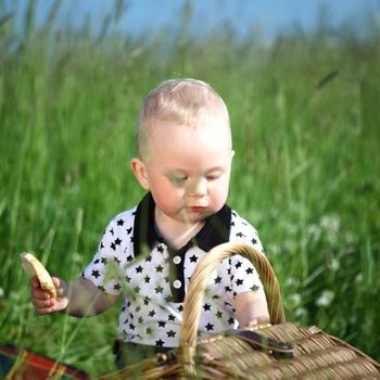
<path id="1" fill-rule="evenodd" d="M 198 325 L 203 293 L 208 279 L 221 261 L 237 254 L 250 259 L 258 273 L 264 286 L 271 325 L 284 321 L 280 287 L 265 255 L 244 243 L 224 243 L 213 248 L 197 266 L 185 297 L 178 360 L 181 362 L 180 364 L 188 373 L 194 369 L 193 355 L 195 354 Z"/>

